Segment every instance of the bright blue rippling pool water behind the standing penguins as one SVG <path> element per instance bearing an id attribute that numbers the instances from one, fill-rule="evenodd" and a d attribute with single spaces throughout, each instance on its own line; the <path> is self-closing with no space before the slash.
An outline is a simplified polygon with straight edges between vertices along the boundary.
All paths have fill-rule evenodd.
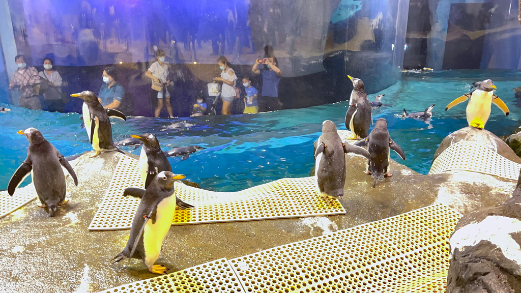
<path id="1" fill-rule="evenodd" d="M 516 106 L 513 88 L 521 86 L 520 72 L 452 70 L 426 73 L 405 73 L 401 82 L 376 94 L 385 94 L 382 102 L 392 108 L 373 110 L 373 117 L 388 121 L 391 137 L 406 153 L 403 161 L 394 152 L 391 157 L 421 174 L 427 174 L 432 156 L 439 143 L 449 133 L 467 126 L 465 104 L 444 111 L 456 97 L 469 92 L 470 83 L 490 78 L 496 94 L 510 108 L 503 115 L 492 105 L 486 129 L 498 136 L 506 135 L 519 126 L 521 105 Z M 349 97 L 346 97 L 348 99 Z M 281 99 L 283 101 L 283 98 Z M 408 112 L 423 111 L 436 104 L 428 123 L 400 117 Z M 85 129 L 76 113 L 46 113 L 11 106 L 11 112 L 0 114 L 0 190 L 7 188 L 10 176 L 27 155 L 28 141 L 17 131 L 34 127 L 42 131 L 65 156 L 90 151 Z M 329 119 L 339 129 L 345 129 L 344 116 L 348 102 L 289 109 L 278 112 L 204 116 L 196 118 L 154 119 L 129 117 L 127 121 L 113 119 L 114 141 L 132 134 L 155 133 L 163 150 L 175 146 L 201 145 L 206 149 L 192 154 L 188 160 L 169 158 L 173 172 L 184 174 L 201 187 L 216 191 L 235 191 L 280 179 L 308 176 L 314 165 L 313 142 L 321 132 L 322 121 Z M 191 126 L 172 128 L 179 121 Z M 140 149 L 122 150 L 139 155 Z M 361 170 L 363 167 L 361 166 Z M 95 175 L 94 175 L 95 176 Z M 24 182 L 30 182 L 26 179 Z"/>

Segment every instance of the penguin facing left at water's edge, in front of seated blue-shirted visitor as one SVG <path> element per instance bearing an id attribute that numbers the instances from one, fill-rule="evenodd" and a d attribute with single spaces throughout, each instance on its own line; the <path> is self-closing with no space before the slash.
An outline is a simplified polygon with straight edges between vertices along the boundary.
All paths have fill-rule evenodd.
<path id="1" fill-rule="evenodd" d="M 120 151 L 112 140 L 112 127 L 110 126 L 110 117 L 118 117 L 123 120 L 127 118 L 125 115 L 115 109 L 105 109 L 98 101 L 96 95 L 91 91 L 83 91 L 81 93 L 71 94 L 82 99 L 83 102 L 83 123 L 85 130 L 89 136 L 92 148 L 96 153 L 91 157 L 100 154 L 101 151 Z"/>

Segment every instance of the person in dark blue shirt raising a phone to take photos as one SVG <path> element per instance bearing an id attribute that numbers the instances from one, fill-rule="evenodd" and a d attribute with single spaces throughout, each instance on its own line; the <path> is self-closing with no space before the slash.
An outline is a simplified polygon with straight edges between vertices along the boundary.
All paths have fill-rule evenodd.
<path id="1" fill-rule="evenodd" d="M 259 68 L 261 63 L 264 66 Z M 259 100 L 266 103 L 266 109 L 263 109 L 263 111 L 280 110 L 283 105 L 279 100 L 279 81 L 282 71 L 277 67 L 277 58 L 255 60 L 252 71 L 255 74 L 262 75 L 262 92 Z"/>

